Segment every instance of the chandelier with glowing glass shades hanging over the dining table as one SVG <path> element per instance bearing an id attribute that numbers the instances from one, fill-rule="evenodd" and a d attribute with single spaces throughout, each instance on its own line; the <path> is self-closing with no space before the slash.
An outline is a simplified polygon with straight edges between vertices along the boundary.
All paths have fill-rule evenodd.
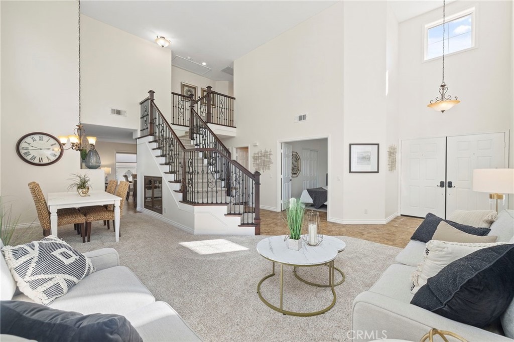
<path id="1" fill-rule="evenodd" d="M 88 151 L 86 155 L 86 166 L 88 168 L 100 167 L 100 156 L 95 149 L 96 137 L 87 137 L 86 131 L 81 123 L 81 72 L 80 72 L 80 0 L 79 0 L 79 124 L 73 130 L 74 134 L 70 136 L 59 136 L 63 149 L 72 149 L 76 151 Z M 70 145 L 66 147 L 66 144 Z M 98 165 L 97 165 L 98 164 Z"/>

